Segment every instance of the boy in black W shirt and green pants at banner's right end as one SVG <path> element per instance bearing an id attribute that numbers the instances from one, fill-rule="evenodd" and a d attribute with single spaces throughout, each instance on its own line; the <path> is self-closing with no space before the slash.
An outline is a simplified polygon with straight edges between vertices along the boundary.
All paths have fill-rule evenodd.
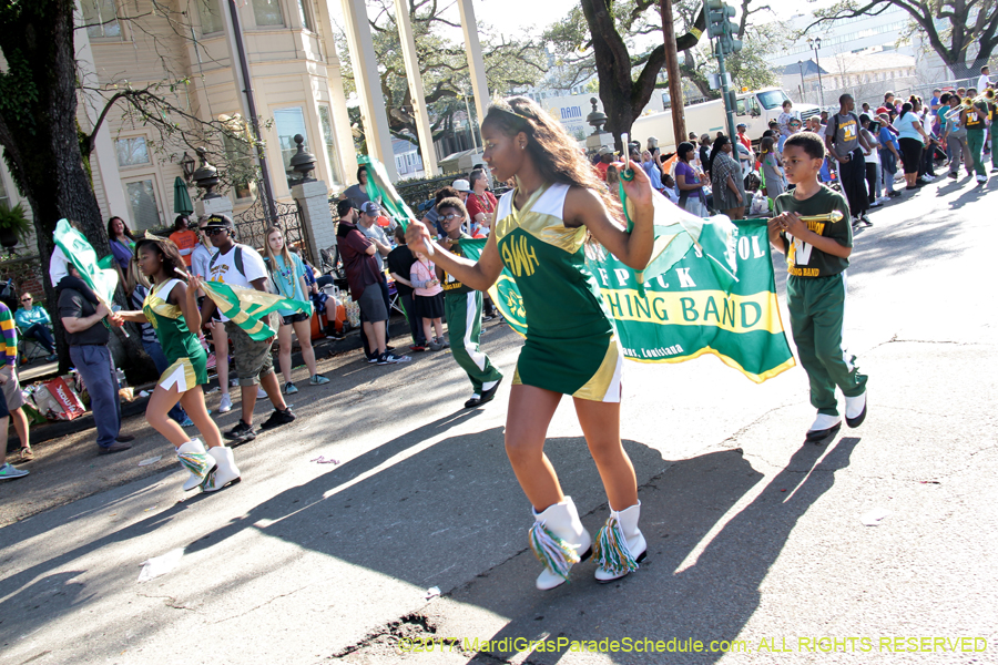
<path id="1" fill-rule="evenodd" d="M 811 381 L 811 403 L 817 409 L 805 441 L 815 443 L 842 428 L 836 386 L 846 398 L 846 423 L 858 427 L 866 418 L 866 376 L 859 374 L 855 356 L 847 355 L 842 341 L 845 270 L 853 247 L 849 206 L 842 194 L 818 182 L 824 158 L 825 146 L 816 134 L 787 139 L 783 162 L 796 188 L 776 197 L 777 216 L 770 221 L 770 242 L 786 254 L 791 329 Z M 837 221 L 806 218 L 836 211 Z"/>

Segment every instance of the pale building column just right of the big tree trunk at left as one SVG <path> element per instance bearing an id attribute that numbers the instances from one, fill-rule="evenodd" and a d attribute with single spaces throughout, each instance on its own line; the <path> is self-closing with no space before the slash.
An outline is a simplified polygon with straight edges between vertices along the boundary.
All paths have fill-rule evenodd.
<path id="1" fill-rule="evenodd" d="M 83 16 L 80 8 L 80 0 L 77 0 L 78 16 Z M 74 35 L 77 45 L 77 62 L 80 66 L 80 74 L 83 80 L 98 82 L 96 66 L 93 63 L 93 49 L 90 48 L 90 35 L 86 30 L 78 29 Z M 90 127 L 96 122 L 101 109 L 104 105 L 103 98 L 96 92 L 85 92 L 89 103 L 84 102 L 83 108 L 86 113 L 86 120 Z M 91 165 L 96 166 L 96 172 L 101 178 L 101 185 L 104 190 L 104 201 L 108 203 L 108 213 L 121 217 L 132 228 L 132 206 L 125 196 L 124 187 L 121 184 L 121 172 L 118 170 L 118 151 L 114 150 L 114 140 L 111 139 L 110 115 L 93 137 L 94 152 L 96 160 L 91 160 Z"/>

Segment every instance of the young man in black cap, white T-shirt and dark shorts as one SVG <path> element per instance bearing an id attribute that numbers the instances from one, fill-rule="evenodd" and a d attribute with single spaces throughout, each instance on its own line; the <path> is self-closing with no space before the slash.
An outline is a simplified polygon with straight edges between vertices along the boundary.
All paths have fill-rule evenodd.
<path id="1" fill-rule="evenodd" d="M 218 253 L 212 257 L 208 264 L 206 279 L 266 293 L 267 268 L 263 258 L 253 247 L 240 245 L 233 241 L 232 217 L 212 215 L 203 228 L 212 245 L 218 248 Z M 205 298 L 201 308 L 201 320 L 212 320 L 215 310 L 215 303 L 211 298 Z M 287 424 L 295 419 L 295 415 L 285 403 L 284 397 L 281 395 L 281 385 L 277 382 L 277 375 L 274 374 L 274 360 L 271 356 L 273 338 L 254 341 L 245 330 L 228 320 L 228 317 L 221 311 L 218 315 L 232 340 L 243 410 L 243 417 L 238 424 L 225 432 L 225 438 L 236 443 L 245 443 L 256 438 L 253 429 L 253 407 L 256 406 L 257 383 L 263 387 L 271 403 L 274 405 L 274 412 L 261 426 L 263 429 Z"/>

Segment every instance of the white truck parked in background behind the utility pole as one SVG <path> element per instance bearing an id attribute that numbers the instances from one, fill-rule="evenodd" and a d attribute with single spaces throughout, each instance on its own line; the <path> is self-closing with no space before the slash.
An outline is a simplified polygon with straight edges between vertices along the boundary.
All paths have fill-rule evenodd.
<path id="1" fill-rule="evenodd" d="M 739 93 L 735 105 L 735 124 L 745 123 L 748 127 L 745 133 L 753 144 L 757 144 L 763 132 L 768 129 L 770 121 L 776 120 L 783 113 L 783 102 L 788 99 L 780 88 L 764 88 Z M 793 111 L 802 120 L 821 113 L 821 109 L 814 104 L 797 102 L 794 102 Z M 713 139 L 717 132 L 727 133 L 724 104 L 721 100 L 686 106 L 683 109 L 683 116 L 686 121 L 686 134 L 695 132 L 697 137 L 710 134 Z M 634 121 L 631 127 L 632 139 L 640 141 L 642 147 L 648 145 L 650 136 L 654 136 L 659 140 L 659 147 L 663 153 L 675 152 L 674 132 L 671 109 L 642 115 Z"/>

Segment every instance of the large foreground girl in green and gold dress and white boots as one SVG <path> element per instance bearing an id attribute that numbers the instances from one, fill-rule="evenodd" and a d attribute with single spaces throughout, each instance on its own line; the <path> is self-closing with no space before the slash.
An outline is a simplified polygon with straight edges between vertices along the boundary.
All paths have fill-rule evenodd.
<path id="1" fill-rule="evenodd" d="M 487 290 L 506 267 L 527 313 L 509 398 L 506 451 L 533 505 L 530 546 L 544 570 L 538 589 L 563 583 L 589 556 L 592 539 L 544 456 L 548 424 L 563 395 L 574 401 L 579 424 L 610 500 L 610 519 L 594 544 L 597 580 L 609 582 L 638 567 L 646 543 L 638 529 L 640 502 L 634 468 L 620 442 L 622 354 L 599 287 L 585 267 L 588 236 L 624 264 L 644 268 L 653 244 L 652 190 L 641 168 L 624 182 L 634 204 L 633 231 L 614 221 L 610 200 L 576 140 L 526 98 L 493 104 L 481 125 L 483 160 L 497 181 L 517 187 L 499 201 L 496 222 L 477 263 L 436 245 L 427 228 L 407 231 L 415 252 L 464 285 Z"/>

